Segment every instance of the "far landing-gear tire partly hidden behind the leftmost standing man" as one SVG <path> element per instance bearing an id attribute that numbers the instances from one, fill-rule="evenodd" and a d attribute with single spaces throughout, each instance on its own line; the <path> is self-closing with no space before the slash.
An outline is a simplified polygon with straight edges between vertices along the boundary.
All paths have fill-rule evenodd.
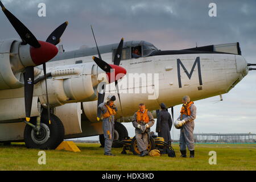
<path id="1" fill-rule="evenodd" d="M 119 122 L 115 122 L 115 132 L 114 132 L 114 140 L 118 140 L 118 141 L 121 141 L 122 139 L 124 139 L 125 137 L 128 137 L 128 131 L 126 129 L 125 126 L 123 126 L 122 123 L 119 123 Z M 115 134 L 118 133 L 118 138 L 115 138 Z M 99 135 L 99 139 L 100 139 L 100 143 L 101 143 L 101 146 L 104 147 L 105 146 L 105 138 L 104 138 L 104 135 Z M 122 144 L 120 143 L 115 143 L 113 142 L 112 144 L 112 147 L 113 148 L 121 148 L 123 147 Z"/>

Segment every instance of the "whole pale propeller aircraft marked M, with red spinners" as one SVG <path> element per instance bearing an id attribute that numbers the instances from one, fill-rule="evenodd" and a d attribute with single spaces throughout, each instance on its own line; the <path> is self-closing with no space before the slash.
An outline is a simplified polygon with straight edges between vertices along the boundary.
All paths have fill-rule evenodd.
<path id="1" fill-rule="evenodd" d="M 255 69 L 241 56 L 239 43 L 160 51 L 148 42 L 122 39 L 69 52 L 60 47 L 55 56 L 67 23 L 40 42 L 0 5 L 22 39 L 0 41 L 1 142 L 53 149 L 64 138 L 101 135 L 97 105 L 105 94 L 119 99 L 115 139 L 121 139 L 127 130 L 120 122 L 130 122 L 139 103 L 154 111 L 160 102 L 181 104 L 187 94 L 196 101 L 228 93 Z"/>

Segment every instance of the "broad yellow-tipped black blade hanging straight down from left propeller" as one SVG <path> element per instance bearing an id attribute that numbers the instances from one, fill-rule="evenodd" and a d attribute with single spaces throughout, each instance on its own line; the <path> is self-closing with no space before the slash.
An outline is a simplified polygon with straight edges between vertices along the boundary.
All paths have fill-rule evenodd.
<path id="1" fill-rule="evenodd" d="M 34 67 L 26 67 L 24 72 L 24 97 L 26 121 L 30 121 L 32 99 L 34 91 Z"/>

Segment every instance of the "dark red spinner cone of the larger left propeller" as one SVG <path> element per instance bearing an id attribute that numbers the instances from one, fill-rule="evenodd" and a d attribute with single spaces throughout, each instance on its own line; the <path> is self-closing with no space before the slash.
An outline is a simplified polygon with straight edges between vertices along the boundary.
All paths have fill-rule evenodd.
<path id="1" fill-rule="evenodd" d="M 30 56 L 35 65 L 46 63 L 55 57 L 58 53 L 58 49 L 53 44 L 48 42 L 39 41 L 41 47 L 30 47 Z"/>

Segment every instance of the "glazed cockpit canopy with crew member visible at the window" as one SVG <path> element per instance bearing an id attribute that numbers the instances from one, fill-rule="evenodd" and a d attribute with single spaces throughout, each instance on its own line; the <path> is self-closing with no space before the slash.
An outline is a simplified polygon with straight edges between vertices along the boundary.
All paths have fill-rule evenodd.
<path id="1" fill-rule="evenodd" d="M 122 60 L 137 59 L 139 57 L 147 57 L 153 51 L 158 51 L 153 44 L 146 41 L 128 41 L 123 44 Z M 117 49 L 113 49 L 112 57 L 114 59 Z"/>

